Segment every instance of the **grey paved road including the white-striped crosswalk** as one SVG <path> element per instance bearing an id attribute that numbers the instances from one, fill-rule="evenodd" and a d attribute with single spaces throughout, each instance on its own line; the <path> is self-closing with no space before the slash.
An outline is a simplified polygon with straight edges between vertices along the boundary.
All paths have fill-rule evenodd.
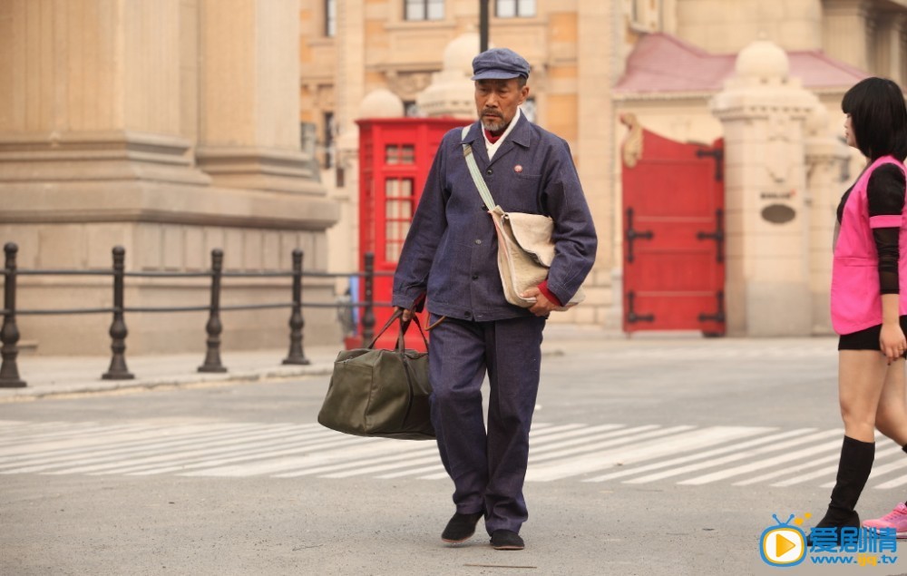
<path id="1" fill-rule="evenodd" d="M 834 340 L 558 336 L 526 551 L 444 546 L 434 444 L 319 427 L 311 376 L 0 405 L 0 573 L 750 574 L 773 513 L 824 512 Z M 905 469 L 882 439 L 864 515 Z"/>

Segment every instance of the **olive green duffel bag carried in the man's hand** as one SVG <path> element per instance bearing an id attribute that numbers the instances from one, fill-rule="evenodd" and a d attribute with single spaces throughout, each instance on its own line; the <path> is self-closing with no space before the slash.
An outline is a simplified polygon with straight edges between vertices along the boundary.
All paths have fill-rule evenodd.
<path id="1" fill-rule="evenodd" d="M 419 332 L 428 341 L 413 316 Z M 400 334 L 394 350 L 375 349 L 378 337 L 399 320 Z M 357 436 L 402 440 L 431 440 L 434 426 L 428 397 L 428 354 L 406 350 L 404 322 L 398 310 L 366 348 L 342 350 L 334 361 L 318 423 Z"/>

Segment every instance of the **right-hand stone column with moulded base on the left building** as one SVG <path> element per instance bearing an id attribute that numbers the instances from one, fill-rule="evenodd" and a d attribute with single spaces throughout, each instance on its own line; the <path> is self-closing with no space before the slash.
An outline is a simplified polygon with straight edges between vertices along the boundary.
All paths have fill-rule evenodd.
<path id="1" fill-rule="evenodd" d="M 199 167 L 216 186 L 324 195 L 289 120 L 299 112 L 298 1 L 201 0 L 200 9 Z"/>

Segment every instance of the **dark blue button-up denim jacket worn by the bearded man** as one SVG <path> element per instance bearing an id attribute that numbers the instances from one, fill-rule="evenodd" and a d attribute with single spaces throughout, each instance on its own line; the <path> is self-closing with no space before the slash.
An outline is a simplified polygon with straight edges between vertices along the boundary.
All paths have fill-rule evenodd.
<path id="1" fill-rule="evenodd" d="M 504 298 L 494 225 L 466 166 L 462 142 L 472 144 L 503 210 L 554 220 L 548 289 L 567 302 L 580 288 L 598 241 L 570 148 L 522 114 L 516 122 L 493 161 L 479 122 L 463 140 L 459 128 L 444 135 L 397 264 L 395 306 L 413 308 L 427 293 L 429 311 L 441 316 L 476 321 L 532 316 Z"/>

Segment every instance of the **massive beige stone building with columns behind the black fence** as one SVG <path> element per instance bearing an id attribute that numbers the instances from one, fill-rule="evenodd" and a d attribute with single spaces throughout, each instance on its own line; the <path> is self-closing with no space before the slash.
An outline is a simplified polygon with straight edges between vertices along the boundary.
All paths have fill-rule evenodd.
<path id="1" fill-rule="evenodd" d="M 0 2 L 0 239 L 20 268 L 327 267 L 336 203 L 300 151 L 296 0 Z M 207 278 L 127 278 L 125 305 L 209 300 Z M 102 308 L 109 277 L 19 278 L 18 308 Z M 288 278 L 225 278 L 224 304 L 289 302 Z M 331 301 L 333 287 L 307 284 Z M 289 309 L 224 312 L 224 350 L 288 345 Z M 200 351 L 204 313 L 126 316 L 129 353 Z M 338 341 L 333 312 L 309 334 Z M 40 354 L 104 354 L 108 315 L 20 316 Z"/>

